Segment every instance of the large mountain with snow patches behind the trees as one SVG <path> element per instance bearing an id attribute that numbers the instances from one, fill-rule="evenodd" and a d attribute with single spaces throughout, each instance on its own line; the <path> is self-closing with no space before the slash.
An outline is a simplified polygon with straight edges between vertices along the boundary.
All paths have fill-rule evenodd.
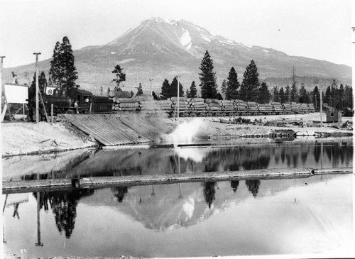
<path id="1" fill-rule="evenodd" d="M 261 81 L 268 82 L 270 86 L 290 84 L 293 67 L 298 82 L 305 82 L 308 87 L 327 84 L 332 79 L 351 84 L 351 67 L 346 65 L 245 45 L 211 33 L 189 21 L 162 18 L 141 21 L 138 26 L 107 44 L 75 50 L 78 84 L 93 92 L 98 92 L 101 87 L 106 89 L 113 79 L 111 70 L 119 64 L 126 73 L 125 85 L 129 91 L 134 92 L 135 89 L 129 87 L 136 87 L 141 82 L 143 90 L 149 92 L 149 79 L 154 79 L 151 81 L 153 90 L 160 92 L 163 80 L 166 78 L 171 82 L 176 75 L 181 76 L 180 82 L 187 89 L 193 80 L 197 85 L 200 82 L 199 67 L 206 50 L 214 61 L 219 85 L 228 77 L 231 67 L 236 69 L 241 81 L 251 60 L 258 67 Z M 49 62 L 40 62 L 40 70 L 48 71 Z M 15 70 L 22 77 L 24 72 L 28 72 L 28 80 L 32 80 L 34 66 L 8 70 L 4 73 L 5 78 L 5 74 Z"/>

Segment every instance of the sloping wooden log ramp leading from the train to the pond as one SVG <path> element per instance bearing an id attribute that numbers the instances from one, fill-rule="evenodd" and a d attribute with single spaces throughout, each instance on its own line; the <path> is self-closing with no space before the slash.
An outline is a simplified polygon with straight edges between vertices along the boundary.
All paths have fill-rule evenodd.
<path id="1" fill-rule="evenodd" d="M 146 121 L 117 114 L 68 114 L 67 121 L 102 145 L 150 143 L 158 133 Z"/>

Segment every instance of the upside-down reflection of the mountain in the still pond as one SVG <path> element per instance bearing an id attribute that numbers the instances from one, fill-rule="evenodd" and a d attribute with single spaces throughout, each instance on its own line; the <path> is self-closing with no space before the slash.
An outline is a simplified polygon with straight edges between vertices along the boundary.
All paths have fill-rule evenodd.
<path id="1" fill-rule="evenodd" d="M 229 206 L 238 206 L 245 199 L 263 199 L 292 187 L 307 187 L 333 177 L 336 176 L 116 187 L 98 189 L 81 202 L 89 206 L 109 206 L 141 222 L 146 228 L 168 231 L 198 224 Z"/>

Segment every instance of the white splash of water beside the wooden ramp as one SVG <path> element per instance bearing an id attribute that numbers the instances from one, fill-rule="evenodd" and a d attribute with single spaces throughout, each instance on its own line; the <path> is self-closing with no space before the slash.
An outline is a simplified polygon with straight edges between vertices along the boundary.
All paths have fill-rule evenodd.
<path id="1" fill-rule="evenodd" d="M 192 119 L 189 122 L 182 122 L 170 134 L 163 136 L 163 139 L 168 143 L 192 143 L 203 126 L 202 119 Z"/>

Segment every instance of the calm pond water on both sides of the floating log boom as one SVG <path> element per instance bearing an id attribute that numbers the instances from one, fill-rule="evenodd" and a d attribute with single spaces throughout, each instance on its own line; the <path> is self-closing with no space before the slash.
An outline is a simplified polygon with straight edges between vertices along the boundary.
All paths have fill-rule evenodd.
<path id="1" fill-rule="evenodd" d="M 3 181 L 352 168 L 352 139 L 75 150 L 3 159 Z M 5 255 L 346 255 L 352 175 L 4 192 Z"/>

